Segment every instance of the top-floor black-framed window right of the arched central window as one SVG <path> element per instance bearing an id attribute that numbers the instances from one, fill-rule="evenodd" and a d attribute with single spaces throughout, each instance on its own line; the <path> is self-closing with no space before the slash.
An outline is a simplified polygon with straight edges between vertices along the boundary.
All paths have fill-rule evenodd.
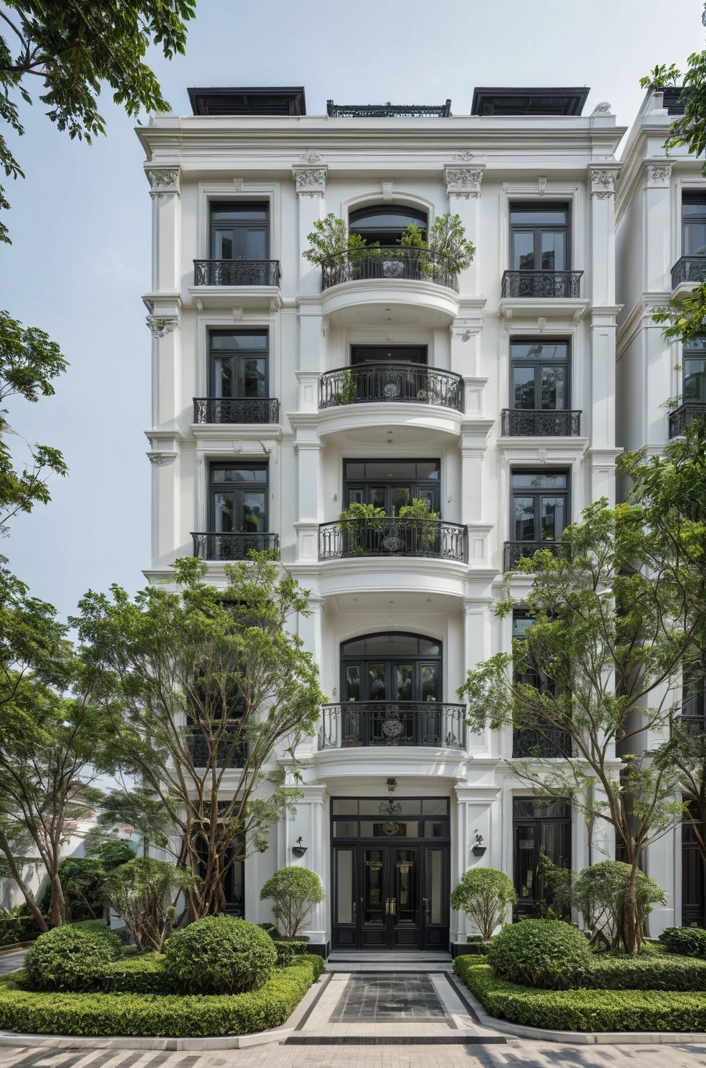
<path id="1" fill-rule="evenodd" d="M 511 270 L 568 270 L 567 204 L 513 204 L 509 232 Z"/>

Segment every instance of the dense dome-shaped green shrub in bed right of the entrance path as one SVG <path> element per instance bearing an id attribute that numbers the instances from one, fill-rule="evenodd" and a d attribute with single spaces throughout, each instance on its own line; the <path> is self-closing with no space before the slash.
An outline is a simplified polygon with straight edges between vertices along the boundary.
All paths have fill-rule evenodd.
<path id="1" fill-rule="evenodd" d="M 560 920 L 522 920 L 496 934 L 486 960 L 509 983 L 570 990 L 591 967 L 591 952 L 576 927 Z"/>

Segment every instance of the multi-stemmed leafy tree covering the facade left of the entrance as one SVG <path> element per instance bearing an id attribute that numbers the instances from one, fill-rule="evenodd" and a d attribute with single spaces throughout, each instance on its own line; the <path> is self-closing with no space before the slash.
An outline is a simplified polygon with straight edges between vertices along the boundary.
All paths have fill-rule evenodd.
<path id="1" fill-rule="evenodd" d="M 226 566 L 225 590 L 188 557 L 173 565 L 174 588 L 147 586 L 135 600 L 119 586 L 89 593 L 73 621 L 87 668 L 112 676 L 124 766 L 178 834 L 178 863 L 200 877 L 192 918 L 221 912 L 233 865 L 268 848 L 299 796 L 272 753 L 285 747 L 296 773 L 324 700 L 311 654 L 287 630 L 307 614 L 305 591 L 267 552 L 251 555 Z"/>

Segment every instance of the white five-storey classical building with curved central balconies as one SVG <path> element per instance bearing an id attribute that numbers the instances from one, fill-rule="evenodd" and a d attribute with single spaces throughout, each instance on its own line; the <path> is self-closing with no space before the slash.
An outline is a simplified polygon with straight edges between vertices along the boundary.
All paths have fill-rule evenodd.
<path id="1" fill-rule="evenodd" d="M 521 612 L 493 614 L 507 582 L 527 588 L 518 557 L 615 496 L 625 130 L 608 104 L 584 116 L 586 95 L 478 89 L 471 114 L 329 101 L 308 115 L 301 89 L 198 89 L 192 116 L 139 130 L 153 199 L 146 574 L 195 553 L 218 584 L 224 562 L 279 546 L 311 590 L 299 634 L 330 704 L 298 754 L 296 817 L 229 894 L 267 918 L 263 880 L 310 866 L 327 894 L 315 944 L 445 948 L 465 941 L 449 891 L 470 865 L 512 874 L 527 911 L 540 849 L 589 863 L 583 817 L 507 767 L 536 739 L 469 734 L 456 696 L 467 668 L 522 632 Z M 458 277 L 443 257 L 398 254 L 409 223 L 428 233 L 448 211 L 476 248 Z M 329 213 L 380 249 L 309 263 Z M 401 517 L 414 499 L 440 518 Z M 339 520 L 354 502 L 388 521 Z M 613 855 L 597 836 L 592 859 Z"/>

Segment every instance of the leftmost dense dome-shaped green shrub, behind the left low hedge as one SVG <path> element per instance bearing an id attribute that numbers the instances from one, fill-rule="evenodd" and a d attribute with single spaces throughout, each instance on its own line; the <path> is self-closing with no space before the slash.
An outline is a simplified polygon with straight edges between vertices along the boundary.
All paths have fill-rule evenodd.
<path id="1" fill-rule="evenodd" d="M 120 954 L 120 942 L 107 927 L 63 924 L 41 934 L 25 957 L 25 972 L 35 990 L 92 990 L 106 964 Z"/>

